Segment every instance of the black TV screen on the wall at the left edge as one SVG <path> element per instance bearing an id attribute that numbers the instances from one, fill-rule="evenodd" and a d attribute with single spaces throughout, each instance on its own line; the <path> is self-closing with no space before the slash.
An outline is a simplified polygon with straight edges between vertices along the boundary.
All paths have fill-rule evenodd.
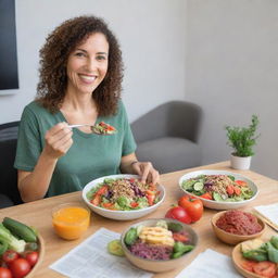
<path id="1" fill-rule="evenodd" d="M 0 90 L 17 88 L 15 2 L 0 0 Z"/>

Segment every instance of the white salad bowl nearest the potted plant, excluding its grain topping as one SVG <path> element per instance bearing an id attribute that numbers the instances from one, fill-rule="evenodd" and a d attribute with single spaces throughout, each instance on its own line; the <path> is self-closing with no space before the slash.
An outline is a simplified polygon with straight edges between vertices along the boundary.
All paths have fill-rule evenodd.
<path id="1" fill-rule="evenodd" d="M 226 194 L 226 200 L 214 192 L 213 187 L 207 189 L 205 184 L 205 176 L 210 175 L 225 175 L 233 179 L 238 185 L 235 188 L 240 189 L 239 191 L 232 192 L 232 194 Z M 235 184 L 230 180 L 230 184 Z M 191 185 L 190 185 L 191 184 Z M 179 179 L 179 187 L 187 194 L 200 199 L 205 207 L 213 210 L 235 210 L 242 207 L 250 202 L 252 202 L 258 194 L 257 186 L 249 178 L 241 174 L 228 172 L 228 170 L 217 170 L 217 169 L 203 169 L 187 173 Z M 210 190 L 208 194 L 207 191 Z M 225 192 L 226 193 L 226 192 Z"/>

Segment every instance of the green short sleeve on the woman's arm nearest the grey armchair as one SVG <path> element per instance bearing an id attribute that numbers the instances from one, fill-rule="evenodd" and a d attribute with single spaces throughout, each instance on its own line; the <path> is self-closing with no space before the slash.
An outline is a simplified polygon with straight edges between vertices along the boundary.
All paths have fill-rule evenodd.
<path id="1" fill-rule="evenodd" d="M 134 138 L 130 125 L 128 123 L 128 117 L 127 117 L 125 106 L 122 101 L 119 102 L 119 109 L 122 110 L 123 125 L 124 125 L 124 140 L 123 140 L 122 156 L 125 156 L 136 151 L 136 142 L 135 142 L 135 138 Z"/>

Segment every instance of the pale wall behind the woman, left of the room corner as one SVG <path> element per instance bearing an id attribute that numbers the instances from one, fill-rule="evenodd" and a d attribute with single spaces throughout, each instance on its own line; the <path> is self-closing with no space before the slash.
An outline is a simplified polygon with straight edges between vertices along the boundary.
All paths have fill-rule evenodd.
<path id="1" fill-rule="evenodd" d="M 125 62 L 123 98 L 134 121 L 167 100 L 185 98 L 182 0 L 16 0 L 20 89 L 0 93 L 0 124 L 20 118 L 36 94 L 38 52 L 64 20 L 103 17 L 117 36 Z"/>

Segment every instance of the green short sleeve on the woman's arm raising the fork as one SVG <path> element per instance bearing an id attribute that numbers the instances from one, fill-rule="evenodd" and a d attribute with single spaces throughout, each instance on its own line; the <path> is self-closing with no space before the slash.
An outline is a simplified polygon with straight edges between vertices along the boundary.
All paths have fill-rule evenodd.
<path id="1" fill-rule="evenodd" d="M 23 111 L 18 129 L 14 167 L 26 172 L 34 170 L 41 151 L 41 135 L 39 132 L 37 117 L 26 106 Z"/>

